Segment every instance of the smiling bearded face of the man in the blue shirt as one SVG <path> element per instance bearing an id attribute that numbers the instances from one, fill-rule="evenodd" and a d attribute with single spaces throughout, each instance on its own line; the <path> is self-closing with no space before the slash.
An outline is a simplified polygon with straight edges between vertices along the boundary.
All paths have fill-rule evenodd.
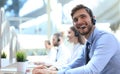
<path id="1" fill-rule="evenodd" d="M 76 11 L 72 17 L 73 24 L 81 35 L 87 35 L 91 31 L 93 24 L 90 15 L 85 9 Z"/>

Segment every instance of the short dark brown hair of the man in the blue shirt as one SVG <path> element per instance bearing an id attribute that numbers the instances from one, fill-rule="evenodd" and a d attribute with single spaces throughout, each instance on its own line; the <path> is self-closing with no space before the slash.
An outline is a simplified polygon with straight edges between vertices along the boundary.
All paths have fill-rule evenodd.
<path id="1" fill-rule="evenodd" d="M 92 23 L 95 25 L 96 20 L 94 19 L 92 10 L 91 10 L 90 8 L 82 5 L 82 4 L 79 4 L 79 5 L 77 5 L 76 7 L 74 7 L 74 8 L 72 9 L 71 16 L 73 17 L 73 15 L 75 14 L 75 12 L 78 11 L 78 10 L 80 10 L 80 9 L 85 9 L 85 10 L 87 11 L 87 13 L 88 13 L 88 14 L 90 15 L 90 17 L 91 17 Z"/>

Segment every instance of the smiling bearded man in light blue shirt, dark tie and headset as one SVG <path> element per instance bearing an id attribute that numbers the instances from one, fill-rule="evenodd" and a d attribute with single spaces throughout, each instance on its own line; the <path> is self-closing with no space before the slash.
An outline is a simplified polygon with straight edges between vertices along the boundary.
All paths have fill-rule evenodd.
<path id="1" fill-rule="evenodd" d="M 97 29 L 91 9 L 84 5 L 74 7 L 71 16 L 74 26 L 87 39 L 85 49 L 66 68 L 57 72 L 41 67 L 38 74 L 119 74 L 120 46 L 115 36 Z"/>

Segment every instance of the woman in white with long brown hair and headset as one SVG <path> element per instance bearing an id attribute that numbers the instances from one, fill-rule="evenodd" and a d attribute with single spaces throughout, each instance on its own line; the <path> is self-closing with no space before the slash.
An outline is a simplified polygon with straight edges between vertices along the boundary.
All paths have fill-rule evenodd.
<path id="1" fill-rule="evenodd" d="M 71 26 L 68 30 L 68 41 L 73 43 L 73 48 L 71 51 L 70 62 L 75 61 L 75 59 L 80 55 L 80 52 L 85 44 L 85 38 L 80 35 L 80 33 L 76 30 L 74 26 Z"/>

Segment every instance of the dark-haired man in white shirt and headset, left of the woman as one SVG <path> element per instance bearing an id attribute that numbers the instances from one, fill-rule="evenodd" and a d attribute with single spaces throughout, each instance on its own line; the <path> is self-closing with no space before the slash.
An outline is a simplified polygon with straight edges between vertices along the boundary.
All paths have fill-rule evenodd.
<path id="1" fill-rule="evenodd" d="M 69 57 L 70 57 L 70 51 L 64 45 L 63 33 L 61 33 L 61 32 L 60 33 L 55 33 L 53 35 L 53 38 L 52 38 L 52 43 L 53 43 L 53 46 L 56 49 L 55 62 L 47 64 L 46 67 L 49 67 L 49 69 L 52 69 L 52 70 L 54 68 L 60 69 L 60 68 L 62 68 L 62 66 L 64 66 L 65 64 L 68 63 L 68 60 L 69 60 Z"/>

